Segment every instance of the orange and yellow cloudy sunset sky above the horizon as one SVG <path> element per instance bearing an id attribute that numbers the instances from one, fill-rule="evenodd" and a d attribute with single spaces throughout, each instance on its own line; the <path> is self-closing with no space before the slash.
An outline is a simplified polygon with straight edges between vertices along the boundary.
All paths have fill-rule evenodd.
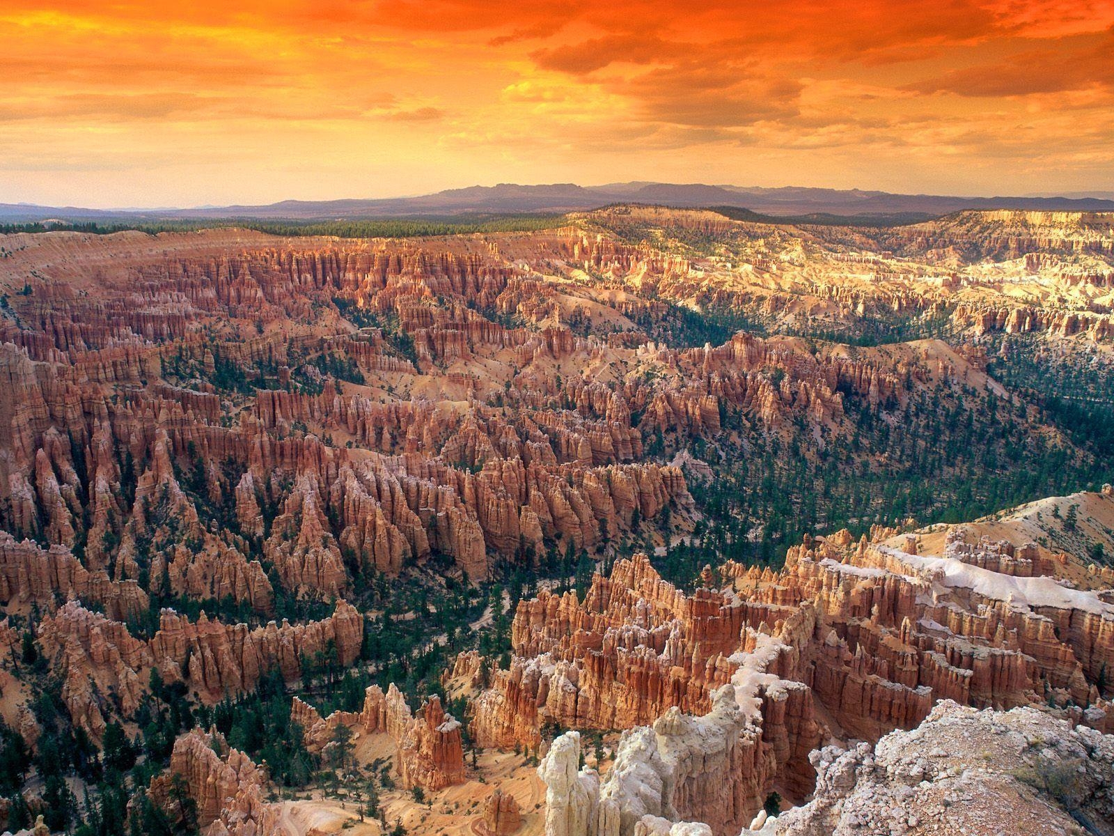
<path id="1" fill-rule="evenodd" d="M 0 0 L 0 202 L 1114 191 L 1114 0 Z"/>

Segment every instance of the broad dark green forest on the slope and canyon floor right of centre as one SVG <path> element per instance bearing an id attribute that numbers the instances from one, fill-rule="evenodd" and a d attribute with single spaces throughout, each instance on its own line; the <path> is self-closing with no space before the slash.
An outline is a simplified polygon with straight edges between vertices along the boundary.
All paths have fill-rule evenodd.
<path id="1" fill-rule="evenodd" d="M 805 533 L 872 524 L 958 523 L 1081 487 L 1097 488 L 1114 456 L 1079 456 L 1030 431 L 1027 405 L 944 386 L 907 404 L 873 407 L 844 391 L 850 434 L 823 434 L 797 420 L 786 439 L 755 428 L 732 410 L 712 446 L 703 440 L 657 439 L 672 457 L 686 444 L 712 463 L 716 478 L 692 480 L 702 511 L 691 542 L 658 562 L 666 577 L 691 583 L 705 563 L 731 558 L 780 565 Z M 653 443 L 653 439 L 651 439 Z"/>

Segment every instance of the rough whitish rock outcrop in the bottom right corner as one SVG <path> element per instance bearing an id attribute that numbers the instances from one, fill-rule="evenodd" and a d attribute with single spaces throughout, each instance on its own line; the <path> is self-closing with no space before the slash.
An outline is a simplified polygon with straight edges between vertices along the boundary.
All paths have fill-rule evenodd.
<path id="1" fill-rule="evenodd" d="M 812 759 L 815 795 L 778 836 L 1114 834 L 1114 736 L 1035 708 L 944 700 L 912 731 Z"/>

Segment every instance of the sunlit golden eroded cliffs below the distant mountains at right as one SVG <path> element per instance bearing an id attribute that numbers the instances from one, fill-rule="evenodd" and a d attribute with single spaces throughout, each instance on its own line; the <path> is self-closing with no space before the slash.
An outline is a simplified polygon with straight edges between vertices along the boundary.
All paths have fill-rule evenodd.
<path id="1" fill-rule="evenodd" d="M 803 318 L 851 336 L 866 314 L 948 320 L 978 333 L 1106 341 L 1114 334 L 1105 293 L 1114 284 L 1110 218 L 971 211 L 871 230 L 620 206 L 586 215 L 603 234 L 583 234 L 571 255 L 583 257 L 586 272 L 653 289 L 658 299 L 742 309 L 773 330 L 793 330 Z M 714 240 L 721 259 L 707 257 L 698 244 L 687 257 L 663 257 L 647 244 L 647 229 L 678 241 Z M 725 252 L 732 256 L 726 264 Z"/>

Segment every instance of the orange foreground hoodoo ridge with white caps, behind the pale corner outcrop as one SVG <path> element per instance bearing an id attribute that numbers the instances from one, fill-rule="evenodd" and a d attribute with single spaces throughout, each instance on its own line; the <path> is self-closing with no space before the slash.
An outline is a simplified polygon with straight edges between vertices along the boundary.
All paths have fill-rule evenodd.
<path id="1" fill-rule="evenodd" d="M 678 822 L 737 833 L 771 790 L 813 791 L 824 739 L 911 729 L 941 700 L 1110 727 L 1102 594 L 1057 580 L 1058 560 L 1033 544 L 954 528 L 941 555 L 918 551 L 916 534 L 844 532 L 808 538 L 781 572 L 705 570 L 721 589 L 692 596 L 644 555 L 596 575 L 584 601 L 543 592 L 519 605 L 516 655 L 473 700 L 472 736 L 529 747 L 554 725 L 628 729 L 603 778 L 569 772 L 574 732 L 539 769 L 555 794 L 547 833 L 628 836 Z M 462 655 L 446 681 L 475 688 L 479 665 Z"/>

